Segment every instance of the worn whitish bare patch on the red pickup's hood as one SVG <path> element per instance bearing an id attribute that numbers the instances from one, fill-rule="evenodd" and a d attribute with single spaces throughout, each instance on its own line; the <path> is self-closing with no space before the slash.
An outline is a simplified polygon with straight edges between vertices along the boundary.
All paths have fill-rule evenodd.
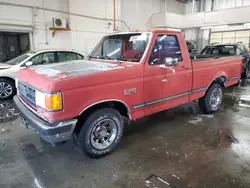
<path id="1" fill-rule="evenodd" d="M 45 66 L 41 65 L 33 69 L 35 73 L 44 75 L 45 77 L 52 77 L 55 81 L 68 77 L 93 74 L 96 72 L 103 72 L 121 68 L 124 68 L 124 66 L 106 62 L 82 60 Z"/>

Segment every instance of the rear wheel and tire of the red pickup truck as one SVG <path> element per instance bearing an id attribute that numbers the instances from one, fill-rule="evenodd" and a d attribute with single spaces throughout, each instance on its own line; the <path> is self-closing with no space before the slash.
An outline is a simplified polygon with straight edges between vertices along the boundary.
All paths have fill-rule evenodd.
<path id="1" fill-rule="evenodd" d="M 220 97 L 220 100 L 218 99 L 218 104 L 217 104 L 217 100 L 215 104 L 212 104 L 212 102 L 214 102 L 212 100 L 214 92 L 218 92 L 218 95 Z M 201 111 L 205 114 L 212 114 L 218 111 L 221 105 L 222 96 L 223 96 L 223 93 L 222 93 L 221 85 L 217 83 L 211 85 L 206 91 L 205 96 L 199 99 L 199 106 L 200 106 Z"/>

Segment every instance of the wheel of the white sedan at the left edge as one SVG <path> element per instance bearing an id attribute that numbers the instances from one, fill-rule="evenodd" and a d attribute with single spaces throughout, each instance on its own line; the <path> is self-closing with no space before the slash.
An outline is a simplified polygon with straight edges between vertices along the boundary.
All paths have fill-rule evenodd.
<path id="1" fill-rule="evenodd" d="M 15 82 L 0 78 L 0 100 L 10 99 L 16 94 Z"/>

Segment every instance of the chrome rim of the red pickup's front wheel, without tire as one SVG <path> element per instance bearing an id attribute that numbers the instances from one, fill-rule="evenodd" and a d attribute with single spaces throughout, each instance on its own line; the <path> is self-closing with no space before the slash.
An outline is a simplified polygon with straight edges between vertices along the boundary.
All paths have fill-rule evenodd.
<path id="1" fill-rule="evenodd" d="M 91 144 L 97 150 L 107 149 L 117 136 L 118 127 L 112 119 L 99 121 L 91 131 Z"/>

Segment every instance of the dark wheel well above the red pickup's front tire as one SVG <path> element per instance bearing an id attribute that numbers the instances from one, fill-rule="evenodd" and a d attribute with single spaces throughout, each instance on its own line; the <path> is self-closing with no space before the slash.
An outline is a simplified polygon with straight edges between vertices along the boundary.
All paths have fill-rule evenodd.
<path id="1" fill-rule="evenodd" d="M 78 123 L 75 128 L 75 133 L 79 133 L 84 121 L 95 111 L 102 109 L 102 108 L 113 108 L 116 109 L 122 116 L 126 118 L 130 118 L 130 111 L 128 106 L 126 106 L 123 102 L 119 101 L 107 101 L 95 104 L 88 109 L 84 110 L 80 116 L 78 117 Z"/>

